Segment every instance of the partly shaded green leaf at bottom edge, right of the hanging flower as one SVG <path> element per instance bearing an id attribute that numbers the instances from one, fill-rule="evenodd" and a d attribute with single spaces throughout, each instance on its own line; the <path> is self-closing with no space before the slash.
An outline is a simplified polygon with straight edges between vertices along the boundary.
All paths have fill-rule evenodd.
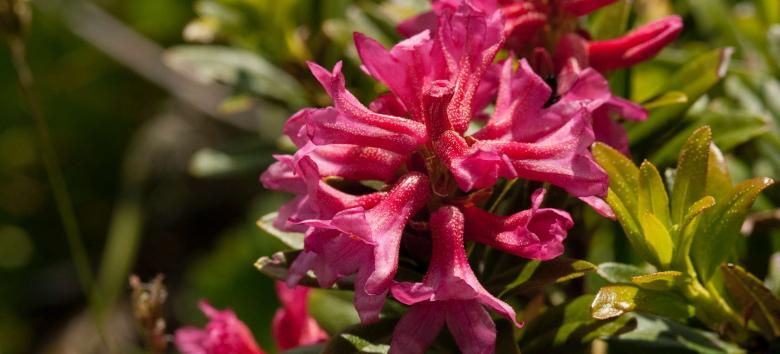
<path id="1" fill-rule="evenodd" d="M 593 295 L 583 295 L 549 308 L 531 320 L 520 331 L 521 353 L 581 353 L 594 339 L 613 335 L 629 320 L 625 317 L 596 320 L 590 316 L 591 302 Z"/>

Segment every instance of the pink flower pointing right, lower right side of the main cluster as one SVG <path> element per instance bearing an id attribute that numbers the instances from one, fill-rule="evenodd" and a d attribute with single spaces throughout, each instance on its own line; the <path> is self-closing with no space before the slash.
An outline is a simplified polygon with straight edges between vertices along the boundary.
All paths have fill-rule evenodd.
<path id="1" fill-rule="evenodd" d="M 563 254 L 563 240 L 574 222 L 569 213 L 539 208 L 544 189 L 531 197 L 531 209 L 510 216 L 496 216 L 482 209 L 463 209 L 466 237 L 493 248 L 529 259 L 548 260 Z"/>

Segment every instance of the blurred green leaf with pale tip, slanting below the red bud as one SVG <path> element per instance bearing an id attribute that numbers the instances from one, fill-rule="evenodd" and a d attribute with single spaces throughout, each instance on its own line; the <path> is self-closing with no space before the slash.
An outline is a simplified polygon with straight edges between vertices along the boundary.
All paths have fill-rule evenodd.
<path id="1" fill-rule="evenodd" d="M 629 141 L 632 144 L 639 144 L 653 137 L 660 130 L 674 126 L 675 119 L 682 116 L 694 102 L 726 75 L 733 51 L 732 48 L 715 49 L 689 61 L 676 73 L 669 75 L 662 92 L 680 92 L 688 98 L 688 102 L 651 110 L 647 121 L 630 126 Z M 654 161 L 657 162 L 655 159 Z"/>

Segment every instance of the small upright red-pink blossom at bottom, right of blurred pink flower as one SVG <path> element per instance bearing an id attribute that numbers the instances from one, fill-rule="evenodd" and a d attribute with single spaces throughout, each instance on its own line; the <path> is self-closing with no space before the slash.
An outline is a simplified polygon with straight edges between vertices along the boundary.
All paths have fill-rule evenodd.
<path id="1" fill-rule="evenodd" d="M 287 350 L 303 345 L 314 344 L 328 339 L 314 318 L 309 316 L 306 301 L 309 289 L 296 286 L 288 288 L 282 282 L 276 282 L 276 295 L 282 308 L 276 310 L 271 327 L 276 346 Z"/>

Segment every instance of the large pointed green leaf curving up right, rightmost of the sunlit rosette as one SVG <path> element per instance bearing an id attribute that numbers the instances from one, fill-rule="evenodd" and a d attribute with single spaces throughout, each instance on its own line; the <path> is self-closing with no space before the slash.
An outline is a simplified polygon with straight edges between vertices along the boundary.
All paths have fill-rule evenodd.
<path id="1" fill-rule="evenodd" d="M 733 254 L 750 207 L 759 193 L 772 183 L 774 181 L 766 177 L 744 181 L 705 212 L 691 247 L 693 264 L 703 282 L 709 281 L 717 267 Z"/>

